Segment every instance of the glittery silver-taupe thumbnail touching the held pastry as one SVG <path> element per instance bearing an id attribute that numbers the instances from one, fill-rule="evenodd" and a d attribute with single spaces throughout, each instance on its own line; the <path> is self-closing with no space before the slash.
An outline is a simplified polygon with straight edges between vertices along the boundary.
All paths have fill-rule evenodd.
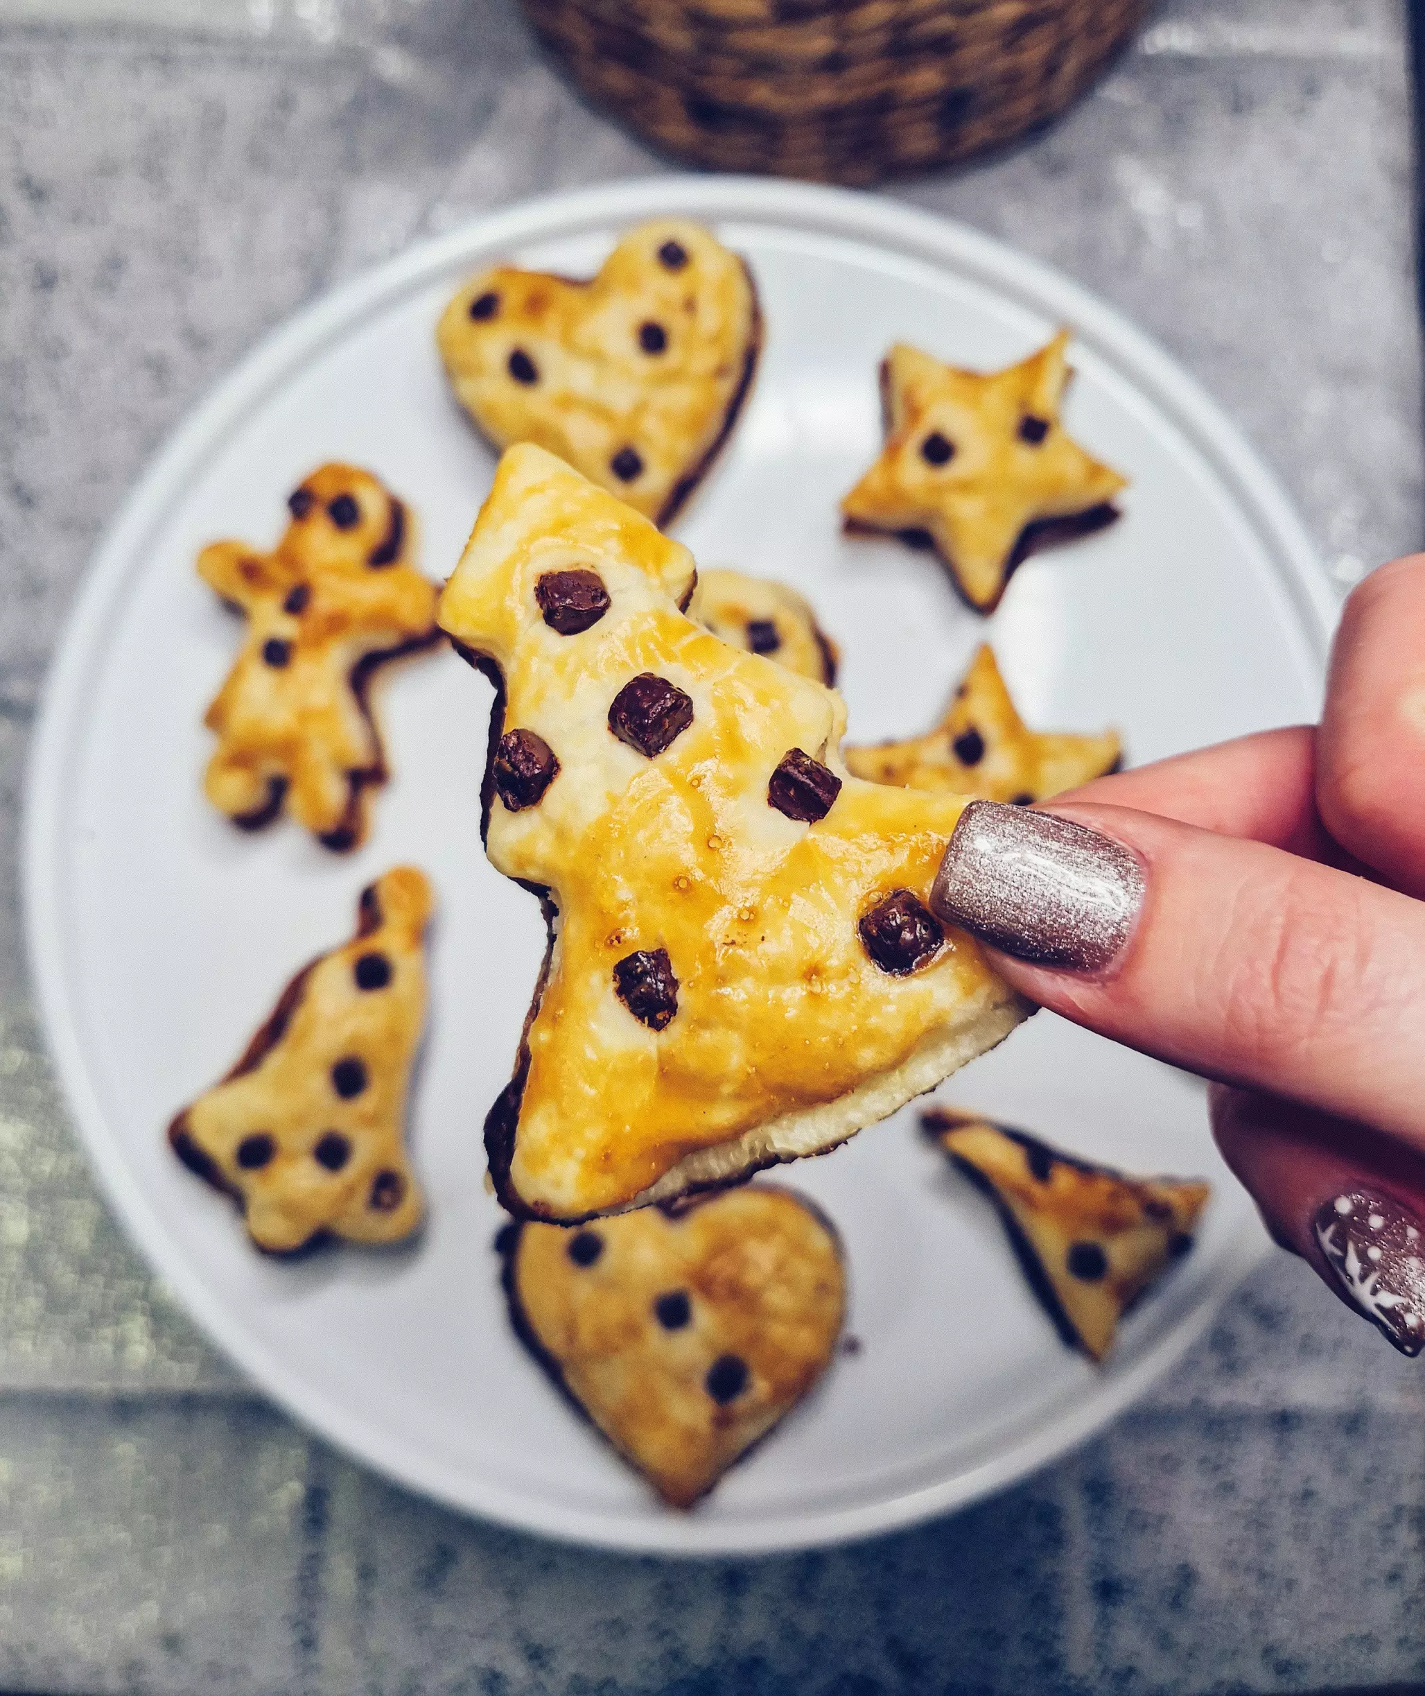
<path id="1" fill-rule="evenodd" d="M 935 875 L 930 906 L 1032 965 L 1101 972 L 1144 901 L 1139 856 L 1052 812 L 973 801 Z"/>

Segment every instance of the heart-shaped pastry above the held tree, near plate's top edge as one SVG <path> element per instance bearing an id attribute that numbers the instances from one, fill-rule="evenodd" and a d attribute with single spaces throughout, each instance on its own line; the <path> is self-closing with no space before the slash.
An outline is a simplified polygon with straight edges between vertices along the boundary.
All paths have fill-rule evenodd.
<path id="1" fill-rule="evenodd" d="M 441 358 L 496 448 L 557 453 L 668 524 L 722 448 L 752 382 L 752 273 L 700 224 L 630 231 L 596 276 L 510 265 L 446 309 Z"/>

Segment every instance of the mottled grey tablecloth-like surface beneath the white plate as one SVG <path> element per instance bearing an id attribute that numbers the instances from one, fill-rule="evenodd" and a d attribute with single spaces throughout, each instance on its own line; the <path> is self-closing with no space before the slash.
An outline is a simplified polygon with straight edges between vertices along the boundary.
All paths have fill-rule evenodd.
<path id="1" fill-rule="evenodd" d="M 1064 124 L 898 187 L 1118 302 L 1340 585 L 1422 539 L 1393 0 L 1167 0 Z M 669 1565 L 459 1520 L 312 1442 L 108 1219 L 29 999 L 44 667 L 146 460 L 339 278 L 666 166 L 512 0 L 0 0 L 0 1688 L 878 1696 L 1425 1681 L 1425 1375 L 1284 1258 L 1103 1438 L 917 1531 Z"/>

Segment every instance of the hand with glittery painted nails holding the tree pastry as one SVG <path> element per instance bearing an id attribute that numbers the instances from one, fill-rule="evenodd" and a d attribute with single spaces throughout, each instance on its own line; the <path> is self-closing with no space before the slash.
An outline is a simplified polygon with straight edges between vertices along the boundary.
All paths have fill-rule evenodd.
<path id="1" fill-rule="evenodd" d="M 1215 1082 L 1281 1247 L 1425 1348 L 1425 555 L 1345 605 L 1318 728 L 976 802 L 932 906 L 1022 994 Z"/>

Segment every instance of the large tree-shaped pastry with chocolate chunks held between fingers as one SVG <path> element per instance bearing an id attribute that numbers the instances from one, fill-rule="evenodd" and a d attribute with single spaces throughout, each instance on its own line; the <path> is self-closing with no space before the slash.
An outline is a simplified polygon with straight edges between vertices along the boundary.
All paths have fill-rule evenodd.
<path id="1" fill-rule="evenodd" d="M 517 1214 L 830 1148 L 1025 1016 L 927 907 L 964 804 L 851 777 L 840 695 L 701 629 L 693 580 L 686 548 L 520 446 L 441 599 L 502 680 L 486 850 L 551 911 L 486 1121 Z"/>

